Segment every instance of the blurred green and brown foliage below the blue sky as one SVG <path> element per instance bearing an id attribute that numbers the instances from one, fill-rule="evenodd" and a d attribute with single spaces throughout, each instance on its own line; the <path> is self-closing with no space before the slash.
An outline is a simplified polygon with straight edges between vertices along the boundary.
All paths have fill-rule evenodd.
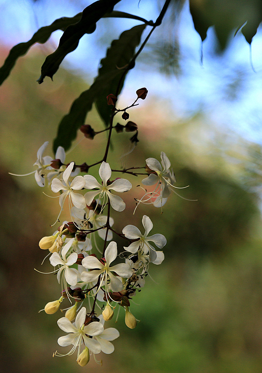
<path id="1" fill-rule="evenodd" d="M 54 278 L 52 285 L 52 275 L 41 275 L 33 268 L 49 272 L 48 260 L 40 267 L 45 253 L 38 241 L 53 232 L 48 225 L 55 221 L 58 201 L 42 194 L 33 175 L 15 178 L 7 172 L 33 169 L 36 151 L 44 141 L 52 141 L 61 116 L 86 82 L 60 69 L 54 83 L 47 81 L 39 87 L 34 77 L 41 61 L 36 52 L 21 59 L 1 89 L 3 371 L 260 373 L 262 222 L 253 185 L 261 181 L 254 166 L 259 165 L 261 147 L 239 139 L 239 149 L 226 134 L 221 145 L 219 133 L 208 127 L 203 113 L 178 124 L 175 115 L 170 120 L 158 111 L 161 102 L 156 107 L 150 93 L 139 110 L 130 112 L 130 119 L 138 124 L 140 142 L 127 166 L 143 166 L 147 157 L 159 159 L 160 151 L 165 151 L 178 186 L 190 185 L 179 189 L 179 194 L 198 201 L 172 195 L 162 215 L 160 209 L 143 205 L 128 222 L 125 212 L 115 213 L 116 230 L 128 223 L 141 228 L 141 217 L 148 214 L 154 223 L 152 232 L 167 238 L 165 261 L 159 267 L 151 265 L 151 279 L 147 277 L 146 287 L 131 305 L 141 322 L 130 330 L 123 323 L 124 312 L 120 313 L 121 336 L 114 341 L 114 354 L 102 356 L 101 368 L 93 361 L 81 368 L 72 358 L 52 358 L 56 340 L 63 334 L 56 325 L 61 315 L 38 314 L 38 310 L 54 300 L 58 284 Z M 94 111 L 86 123 L 96 131 L 103 129 Z M 210 136 L 201 138 L 207 128 Z M 68 154 L 68 162 L 95 162 L 98 153 L 103 154 L 103 136 L 81 141 Z M 129 137 L 113 134 L 112 167 L 119 167 Z M 125 194 L 128 214 L 140 193 L 133 188 Z"/>

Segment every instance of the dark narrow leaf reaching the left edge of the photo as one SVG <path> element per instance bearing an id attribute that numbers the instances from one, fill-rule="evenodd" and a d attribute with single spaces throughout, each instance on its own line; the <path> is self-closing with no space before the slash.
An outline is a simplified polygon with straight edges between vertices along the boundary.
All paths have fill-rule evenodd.
<path id="1" fill-rule="evenodd" d="M 32 47 L 35 43 L 44 44 L 49 37 L 51 36 L 52 32 L 57 30 L 64 31 L 67 26 L 71 25 L 72 23 L 76 23 L 81 18 L 82 13 L 78 13 L 74 17 L 62 17 L 56 19 L 51 25 L 41 27 L 38 31 L 33 34 L 32 38 L 28 40 L 26 43 L 19 43 L 14 46 L 7 56 L 6 60 L 4 61 L 3 66 L 0 68 L 0 85 L 5 81 L 5 79 L 9 76 L 11 70 L 15 66 L 16 60 L 26 54 L 28 50 Z"/>

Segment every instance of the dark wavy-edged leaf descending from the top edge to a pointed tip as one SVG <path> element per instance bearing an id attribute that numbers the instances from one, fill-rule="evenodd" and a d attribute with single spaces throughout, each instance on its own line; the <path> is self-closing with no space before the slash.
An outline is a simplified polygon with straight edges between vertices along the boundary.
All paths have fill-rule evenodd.
<path id="1" fill-rule="evenodd" d="M 57 49 L 45 59 L 41 68 L 41 76 L 38 79 L 39 84 L 44 81 L 45 76 L 52 79 L 65 56 L 77 48 L 82 36 L 95 31 L 96 22 L 105 13 L 111 12 L 119 1 L 121 0 L 98 0 L 83 10 L 80 20 L 65 29 Z"/>

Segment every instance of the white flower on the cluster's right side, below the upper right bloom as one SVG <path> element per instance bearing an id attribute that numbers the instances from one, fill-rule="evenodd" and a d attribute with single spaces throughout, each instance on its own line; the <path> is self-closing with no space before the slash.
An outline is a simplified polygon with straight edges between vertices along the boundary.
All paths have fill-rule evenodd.
<path id="1" fill-rule="evenodd" d="M 148 233 L 153 228 L 153 223 L 151 222 L 150 218 L 146 215 L 143 216 L 142 224 L 145 228 L 145 233 L 142 235 L 140 230 L 135 227 L 134 225 L 127 225 L 123 229 L 124 235 L 129 239 L 138 239 L 135 242 L 132 242 L 128 247 L 124 247 L 125 250 L 129 251 L 130 253 L 137 253 L 138 251 L 142 254 L 147 254 L 149 251 L 149 261 L 154 264 L 160 264 L 164 259 L 164 254 L 157 254 L 157 252 L 153 246 L 149 244 L 148 241 L 154 242 L 154 244 L 162 249 L 166 244 L 166 238 L 160 234 L 154 234 L 153 236 L 148 236 Z M 157 260 L 158 257 L 158 260 Z M 162 257 L 162 261 L 159 263 L 159 259 Z M 157 261 L 156 261 L 157 260 Z"/>

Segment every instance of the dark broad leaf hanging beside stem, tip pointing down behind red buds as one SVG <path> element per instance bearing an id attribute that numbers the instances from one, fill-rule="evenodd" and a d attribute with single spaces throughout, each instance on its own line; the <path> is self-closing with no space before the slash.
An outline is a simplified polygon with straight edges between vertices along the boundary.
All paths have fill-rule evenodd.
<path id="1" fill-rule="evenodd" d="M 108 48 L 106 57 L 101 60 L 98 76 L 107 73 L 112 79 L 107 80 L 107 84 L 102 85 L 99 96 L 95 100 L 96 109 L 106 126 L 109 125 L 111 107 L 106 105 L 106 96 L 110 93 L 116 97 L 121 92 L 125 75 L 128 70 L 134 67 L 128 66 L 135 53 L 135 48 L 140 44 L 141 35 L 146 25 L 138 25 L 130 30 L 124 31 L 118 40 L 113 40 Z M 128 70 L 126 69 L 128 66 Z"/>

